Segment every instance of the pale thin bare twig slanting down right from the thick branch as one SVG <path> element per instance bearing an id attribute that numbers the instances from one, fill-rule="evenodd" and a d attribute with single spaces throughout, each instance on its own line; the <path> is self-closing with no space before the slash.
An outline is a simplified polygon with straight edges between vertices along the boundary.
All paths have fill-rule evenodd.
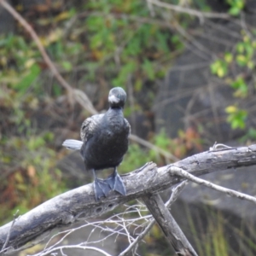
<path id="1" fill-rule="evenodd" d="M 233 189 L 226 189 L 224 187 L 218 186 L 216 184 L 210 183 L 206 180 L 201 179 L 200 177 L 195 177 L 194 175 L 190 174 L 189 172 L 184 171 L 182 168 L 177 167 L 177 166 L 170 166 L 169 172 L 172 175 L 177 175 L 179 177 L 185 177 L 187 179 L 189 179 L 190 181 L 194 182 L 194 183 L 198 183 L 200 185 L 204 185 L 210 189 L 214 189 L 217 190 L 219 192 L 223 192 L 227 195 L 233 196 L 233 197 L 237 197 L 239 199 L 245 199 L 247 201 L 251 201 L 254 204 L 256 204 L 256 198 L 252 195 L 246 195 L 244 193 L 241 192 L 237 192 L 236 190 Z"/>

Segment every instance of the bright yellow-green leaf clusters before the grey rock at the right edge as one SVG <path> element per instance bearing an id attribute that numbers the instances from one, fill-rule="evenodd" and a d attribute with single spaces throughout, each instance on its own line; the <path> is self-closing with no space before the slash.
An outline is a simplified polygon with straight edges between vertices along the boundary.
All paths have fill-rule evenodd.
<path id="1" fill-rule="evenodd" d="M 250 90 L 246 79 L 253 73 L 256 64 L 256 38 L 252 37 L 253 34 L 249 37 L 248 32 L 245 31 L 241 32 L 241 36 L 241 41 L 236 44 L 236 52 L 226 52 L 223 59 L 214 61 L 211 65 L 211 72 L 230 85 L 236 98 L 246 99 Z M 235 65 L 241 67 L 241 72 L 233 75 L 230 70 Z M 225 111 L 228 114 L 227 121 L 232 129 L 246 128 L 247 109 L 241 109 L 239 106 L 229 106 Z"/>

